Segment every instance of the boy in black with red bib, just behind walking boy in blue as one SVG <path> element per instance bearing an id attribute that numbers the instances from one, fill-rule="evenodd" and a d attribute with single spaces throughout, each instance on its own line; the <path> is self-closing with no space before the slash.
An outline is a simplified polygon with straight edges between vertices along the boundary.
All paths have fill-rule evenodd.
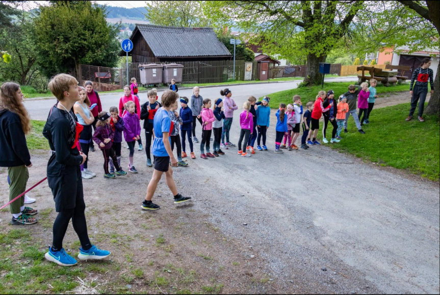
<path id="1" fill-rule="evenodd" d="M 145 129 L 145 153 L 147 154 L 147 166 L 151 167 L 151 138 L 153 136 L 153 120 L 154 115 L 162 105 L 156 101 L 156 92 L 153 90 L 148 91 L 148 102 L 141 106 L 141 120 L 144 120 L 144 129 Z"/>

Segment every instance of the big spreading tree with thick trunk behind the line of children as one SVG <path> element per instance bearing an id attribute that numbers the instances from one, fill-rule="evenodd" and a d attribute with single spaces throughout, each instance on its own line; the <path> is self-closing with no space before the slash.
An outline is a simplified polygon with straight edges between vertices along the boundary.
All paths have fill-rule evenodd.
<path id="1" fill-rule="evenodd" d="M 362 1 L 210 1 L 204 12 L 214 21 L 264 37 L 264 52 L 286 59 L 306 55 L 304 81 L 312 85 L 322 80 L 319 62 L 347 37 L 362 6 Z"/>

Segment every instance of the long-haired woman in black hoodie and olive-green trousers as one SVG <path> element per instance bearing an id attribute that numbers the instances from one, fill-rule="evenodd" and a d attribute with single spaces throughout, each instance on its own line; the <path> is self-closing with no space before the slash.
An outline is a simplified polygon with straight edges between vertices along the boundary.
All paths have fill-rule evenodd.
<path id="1" fill-rule="evenodd" d="M 9 201 L 26 190 L 32 167 L 25 134 L 31 131 L 28 112 L 22 103 L 20 85 L 12 82 L 0 87 L 0 167 L 8 167 Z M 32 215 L 37 210 L 24 206 L 24 195 L 11 203 L 12 225 L 31 225 L 37 222 Z"/>

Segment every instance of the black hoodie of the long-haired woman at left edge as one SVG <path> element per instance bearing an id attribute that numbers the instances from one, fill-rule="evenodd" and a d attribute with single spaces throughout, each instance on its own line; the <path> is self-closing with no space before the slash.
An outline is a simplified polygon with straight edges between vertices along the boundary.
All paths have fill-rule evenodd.
<path id="1" fill-rule="evenodd" d="M 20 117 L 7 109 L 0 111 L 0 146 L 0 167 L 31 165 Z"/>

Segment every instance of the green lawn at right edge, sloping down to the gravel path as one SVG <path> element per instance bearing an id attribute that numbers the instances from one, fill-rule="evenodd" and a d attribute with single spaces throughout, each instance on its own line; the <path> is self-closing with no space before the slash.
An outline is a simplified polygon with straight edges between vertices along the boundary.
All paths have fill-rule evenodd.
<path id="1" fill-rule="evenodd" d="M 377 163 L 406 169 L 433 181 L 440 174 L 440 124 L 435 115 L 405 121 L 410 105 L 373 109 L 371 123 L 364 125 L 366 134 L 357 132 L 353 119 L 349 119 L 348 133 L 342 133 L 340 143 L 329 144 L 333 149 Z M 327 134 L 331 128 L 327 129 Z M 318 132 L 318 134 L 322 133 Z M 327 138 L 328 139 L 328 138 Z"/>

